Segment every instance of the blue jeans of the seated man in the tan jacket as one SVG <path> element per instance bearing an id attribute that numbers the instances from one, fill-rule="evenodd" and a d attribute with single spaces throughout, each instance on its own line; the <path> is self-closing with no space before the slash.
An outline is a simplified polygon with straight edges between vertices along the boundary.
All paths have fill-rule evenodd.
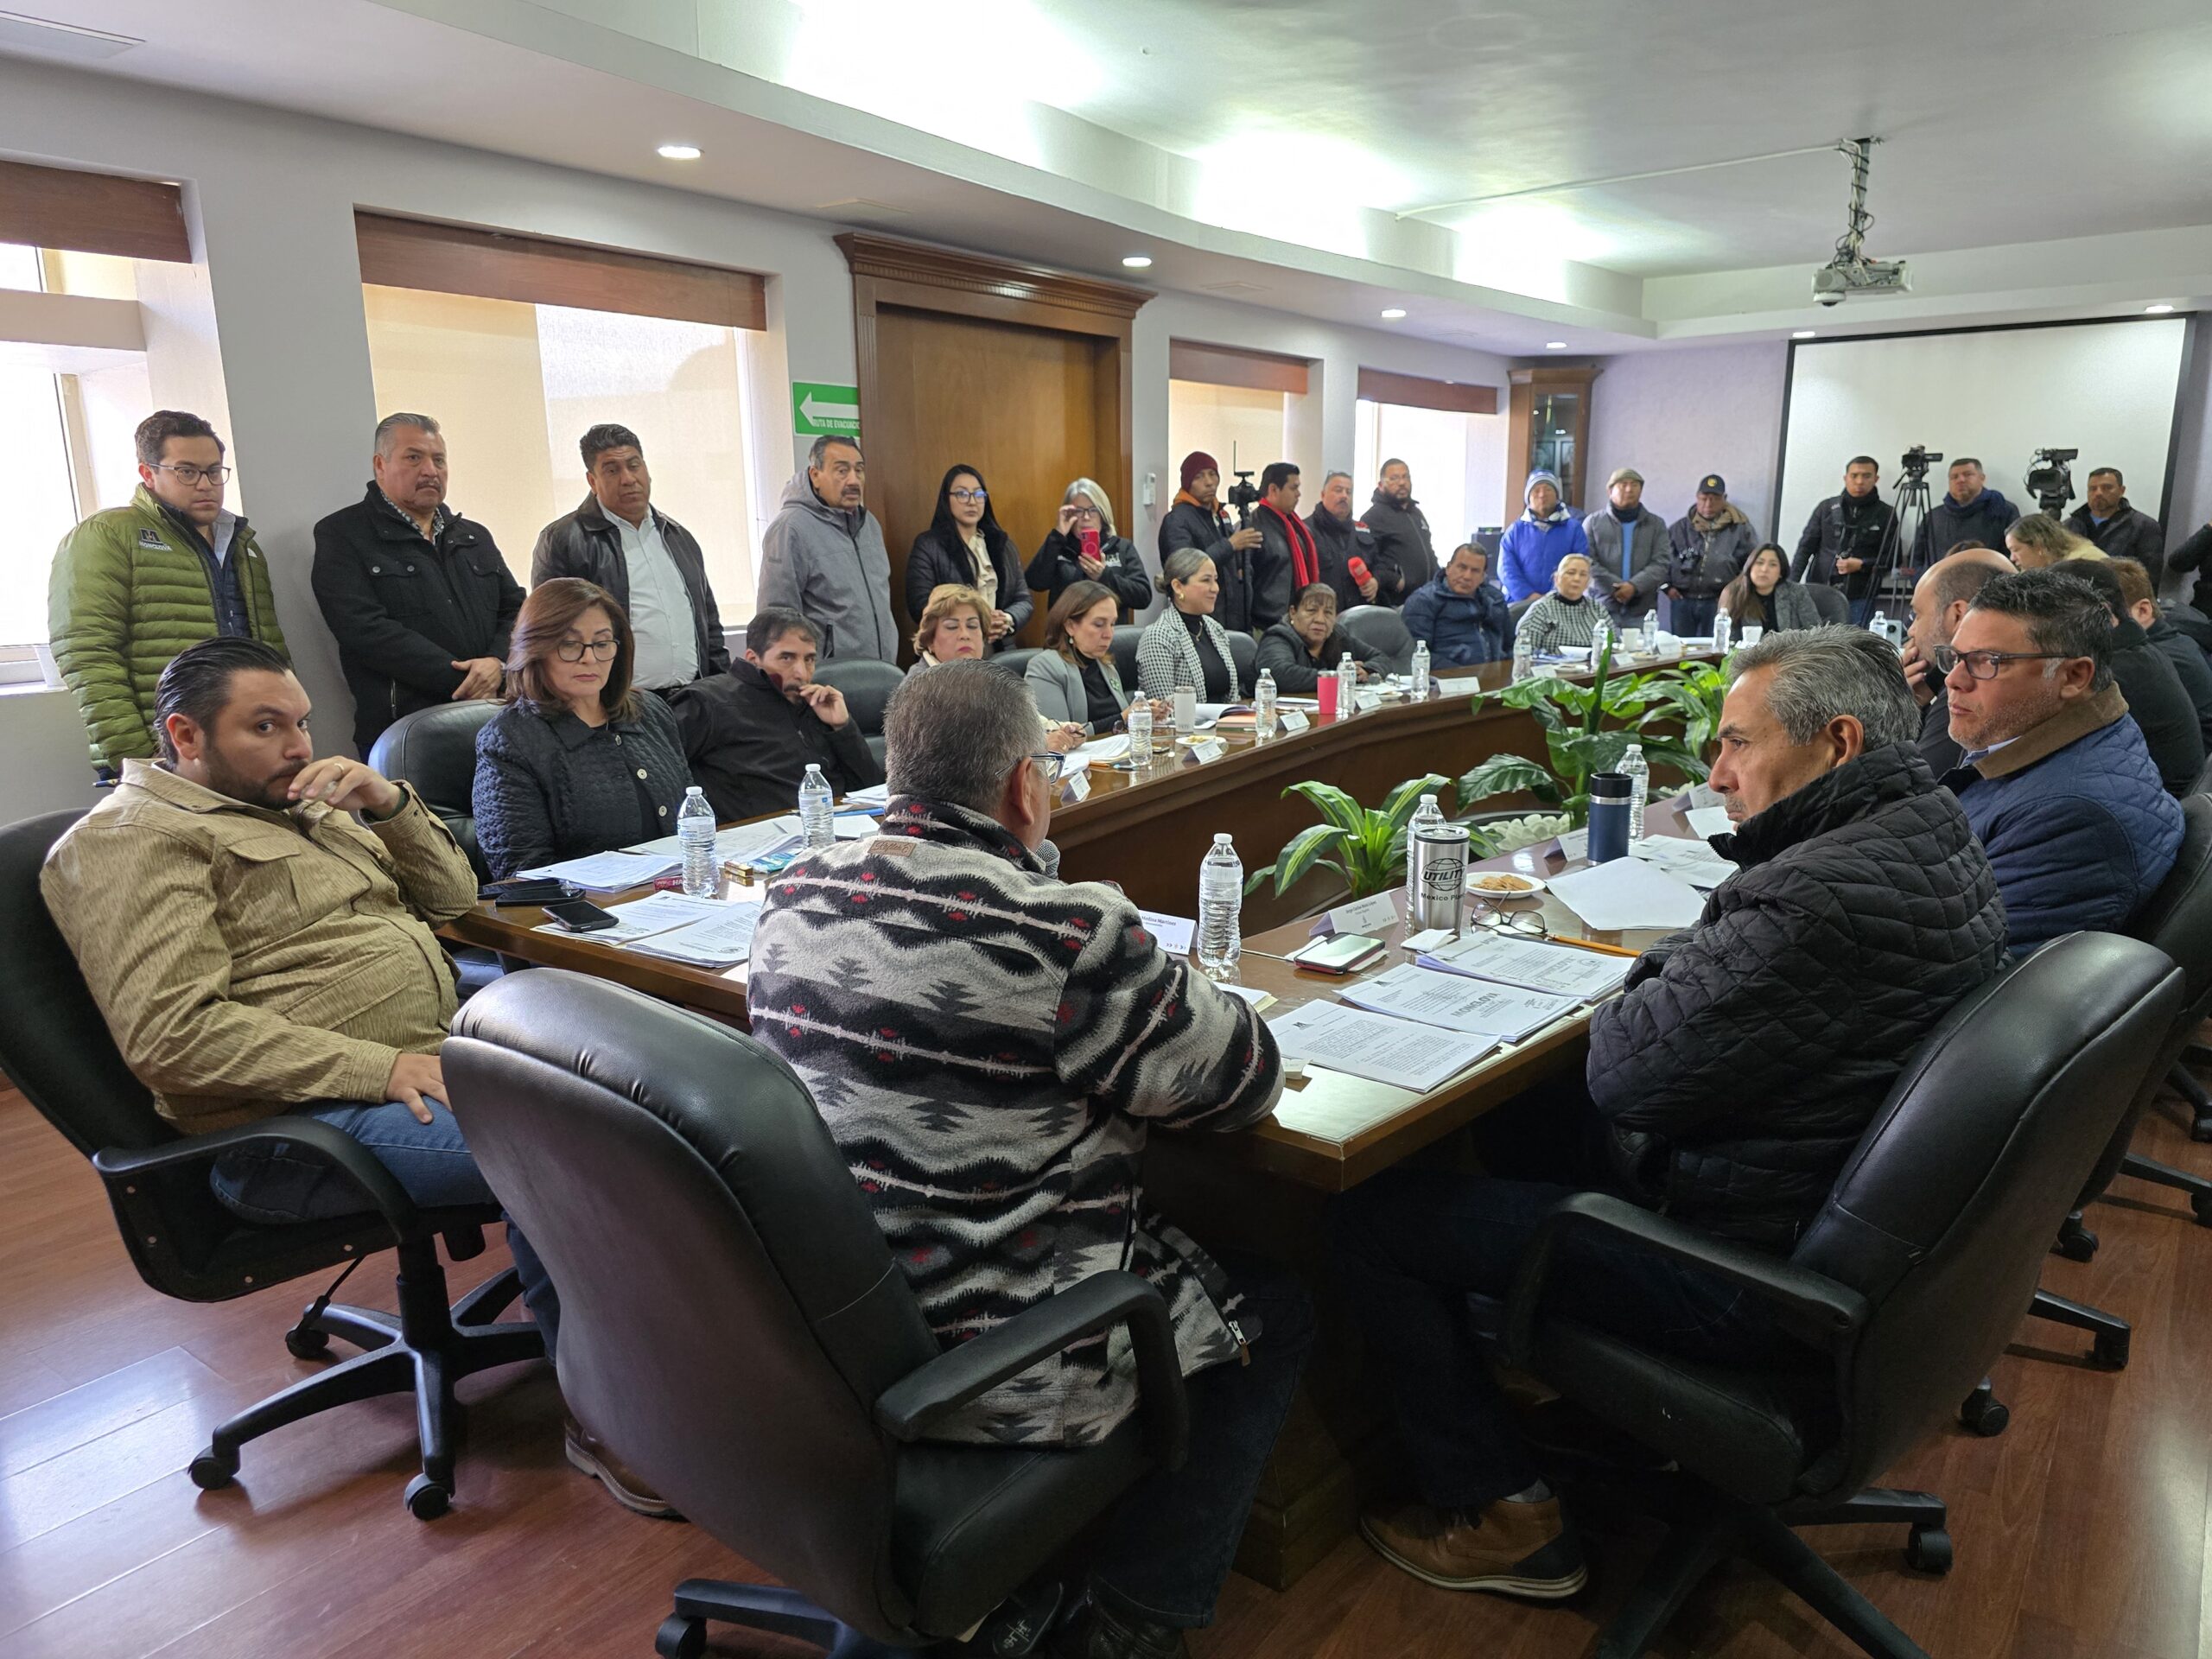
<path id="1" fill-rule="evenodd" d="M 352 1135 L 376 1152 L 376 1161 L 392 1170 L 407 1197 L 425 1210 L 498 1203 L 484 1186 L 482 1170 L 476 1168 L 469 1144 L 460 1139 L 453 1113 L 442 1102 L 429 1102 L 429 1113 L 431 1119 L 422 1124 L 396 1099 L 380 1106 L 358 1099 L 316 1099 L 292 1106 L 288 1115 L 314 1117 Z M 369 1208 L 361 1190 L 330 1164 L 312 1155 L 296 1157 L 283 1144 L 223 1152 L 215 1159 L 208 1183 L 228 1210 L 263 1225 L 321 1221 Z M 553 1281 L 546 1279 L 531 1241 L 513 1221 L 507 1223 L 507 1248 L 522 1279 L 522 1303 L 544 1332 L 546 1358 L 553 1358 L 560 1296 L 553 1294 Z"/>

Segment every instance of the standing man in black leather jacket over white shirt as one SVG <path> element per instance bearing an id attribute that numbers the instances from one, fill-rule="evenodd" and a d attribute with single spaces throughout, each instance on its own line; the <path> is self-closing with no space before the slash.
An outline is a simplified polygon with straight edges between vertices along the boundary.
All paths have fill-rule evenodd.
<path id="1" fill-rule="evenodd" d="M 633 684 L 666 692 L 730 666 L 721 611 L 699 540 L 653 504 L 644 445 L 602 422 L 577 442 L 591 493 L 538 533 L 531 586 L 553 577 L 593 582 L 630 617 Z"/>

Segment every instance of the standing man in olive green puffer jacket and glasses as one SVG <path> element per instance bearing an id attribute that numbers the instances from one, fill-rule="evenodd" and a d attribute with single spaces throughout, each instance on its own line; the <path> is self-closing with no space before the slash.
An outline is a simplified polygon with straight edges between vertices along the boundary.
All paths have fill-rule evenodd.
<path id="1" fill-rule="evenodd" d="M 157 409 L 137 429 L 139 489 L 77 524 L 53 555 L 53 661 L 91 734 L 93 770 L 150 759 L 153 690 L 186 646 L 252 635 L 283 650 L 270 566 L 223 511 L 223 440 L 195 414 Z"/>

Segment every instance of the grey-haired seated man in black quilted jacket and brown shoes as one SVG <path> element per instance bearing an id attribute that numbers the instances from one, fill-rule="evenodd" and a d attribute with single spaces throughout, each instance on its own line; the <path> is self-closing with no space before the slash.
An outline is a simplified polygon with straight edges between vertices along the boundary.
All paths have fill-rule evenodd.
<path id="1" fill-rule="evenodd" d="M 1564 1102 L 1575 1133 L 1557 1168 L 1394 1170 L 1338 1199 L 1369 1376 L 1420 1491 L 1360 1531 L 1442 1588 L 1555 1599 L 1584 1582 L 1548 1469 L 1469 1334 L 1469 1292 L 1504 1301 L 1577 1186 L 1787 1254 L 1913 1048 L 2004 960 L 1997 880 L 1913 750 L 1920 710 L 1896 653 L 1865 628 L 1805 628 L 1745 646 L 1725 672 L 1712 787 L 1734 834 L 1714 845 L 1739 874 L 1590 1011 L 1588 1099 Z M 1557 1121 L 1559 1102 L 1531 1104 Z M 1568 1237 L 1548 1294 L 1690 1363 L 1812 1363 L 1736 1285 L 1597 1234 Z"/>

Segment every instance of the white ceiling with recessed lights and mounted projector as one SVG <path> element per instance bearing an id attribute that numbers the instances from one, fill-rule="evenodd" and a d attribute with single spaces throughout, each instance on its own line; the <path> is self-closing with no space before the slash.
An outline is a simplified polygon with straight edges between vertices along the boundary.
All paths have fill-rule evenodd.
<path id="1" fill-rule="evenodd" d="M 2203 0 L 11 9 L 146 42 L 104 73 L 1084 270 L 1144 248 L 1164 288 L 1363 325 L 1402 305 L 1407 332 L 1509 354 L 2212 299 L 2212 230 L 2157 239 L 2212 228 Z M 1913 257 L 1913 299 L 1807 303 L 1843 230 L 1834 153 L 1398 219 L 1849 133 L 1885 137 L 1869 250 Z M 659 161 L 670 137 L 706 159 Z M 2039 283 L 1960 252 L 2046 239 L 2104 259 Z"/>

